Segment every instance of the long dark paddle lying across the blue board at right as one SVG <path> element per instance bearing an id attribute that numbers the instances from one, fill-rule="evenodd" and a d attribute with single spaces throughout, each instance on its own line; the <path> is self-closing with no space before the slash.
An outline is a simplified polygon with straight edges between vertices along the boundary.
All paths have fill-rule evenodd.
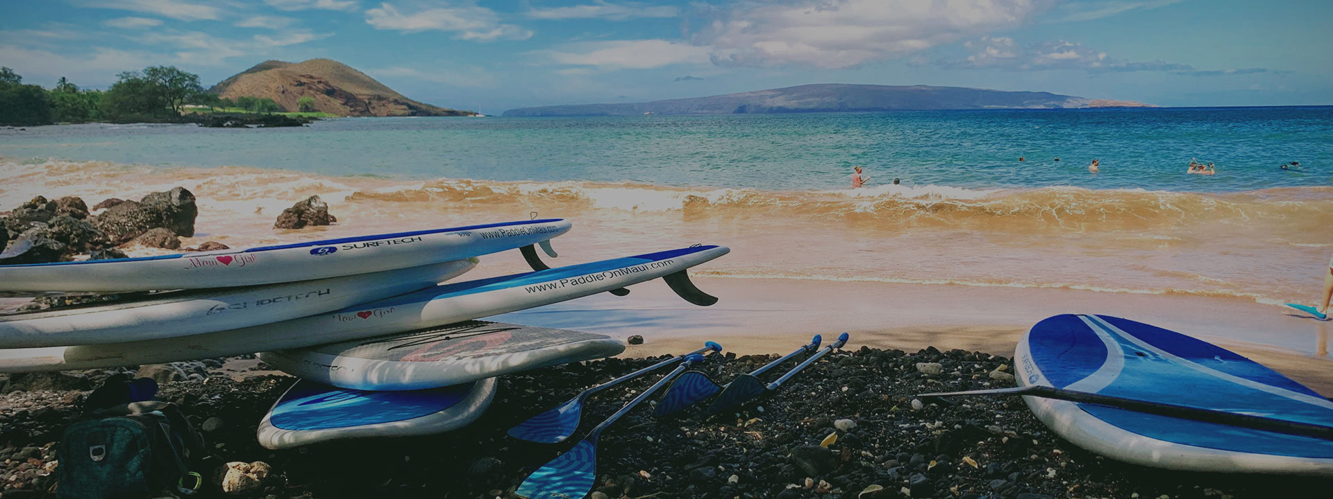
<path id="1" fill-rule="evenodd" d="M 949 393 L 936 393 L 936 394 L 921 394 L 917 397 L 953 397 L 953 395 L 1032 395 L 1041 398 L 1052 398 L 1057 401 L 1069 401 L 1078 403 L 1092 403 L 1105 407 L 1124 409 L 1136 413 L 1156 414 L 1170 418 L 1201 420 L 1206 423 L 1218 423 L 1228 426 L 1238 426 L 1252 430 L 1264 430 L 1281 432 L 1288 435 L 1301 435 L 1313 436 L 1325 440 L 1333 440 L 1333 426 L 1301 423 L 1296 420 L 1265 418 L 1249 414 L 1218 411 L 1202 407 L 1181 406 L 1166 402 L 1148 402 L 1136 401 L 1132 398 L 1102 395 L 1088 391 L 1078 390 L 1065 390 L 1053 386 L 1020 386 L 1016 389 L 993 389 L 993 390 L 969 390 L 969 391 L 949 391 Z"/>

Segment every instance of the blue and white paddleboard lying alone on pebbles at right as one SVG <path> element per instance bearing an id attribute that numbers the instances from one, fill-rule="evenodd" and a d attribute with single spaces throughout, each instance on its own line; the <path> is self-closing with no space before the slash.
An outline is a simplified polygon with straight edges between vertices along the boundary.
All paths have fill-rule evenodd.
<path id="1" fill-rule="evenodd" d="M 1038 322 L 1014 354 L 1020 386 L 1333 426 L 1333 402 L 1236 353 L 1108 315 Z M 1108 458 L 1170 470 L 1333 475 L 1333 442 L 1024 397 L 1053 431 Z"/>

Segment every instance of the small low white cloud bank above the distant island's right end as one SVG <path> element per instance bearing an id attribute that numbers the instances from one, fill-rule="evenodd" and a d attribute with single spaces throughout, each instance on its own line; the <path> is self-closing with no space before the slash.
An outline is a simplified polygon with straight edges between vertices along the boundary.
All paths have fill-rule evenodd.
<path id="1" fill-rule="evenodd" d="M 1264 68 L 1200 71 L 1194 69 L 1194 67 L 1189 64 L 1180 63 L 1134 63 L 1125 59 L 1114 59 L 1108 56 L 1106 52 L 1065 40 L 1038 41 L 1021 47 L 1013 39 L 1006 36 L 982 36 L 981 39 L 964 43 L 962 47 L 972 51 L 972 55 L 962 60 L 937 60 L 934 64 L 953 69 L 1080 69 L 1088 72 L 1162 71 L 1190 76 L 1249 75 L 1268 72 L 1268 69 Z"/>

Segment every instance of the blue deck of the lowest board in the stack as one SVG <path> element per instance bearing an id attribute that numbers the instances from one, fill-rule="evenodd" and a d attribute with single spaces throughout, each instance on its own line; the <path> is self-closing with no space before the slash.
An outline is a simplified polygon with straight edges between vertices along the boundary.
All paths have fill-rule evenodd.
<path id="1" fill-rule="evenodd" d="M 421 418 L 453 407 L 476 382 L 429 390 L 361 391 L 299 381 L 273 406 L 269 423 L 283 430 L 329 430 Z"/>

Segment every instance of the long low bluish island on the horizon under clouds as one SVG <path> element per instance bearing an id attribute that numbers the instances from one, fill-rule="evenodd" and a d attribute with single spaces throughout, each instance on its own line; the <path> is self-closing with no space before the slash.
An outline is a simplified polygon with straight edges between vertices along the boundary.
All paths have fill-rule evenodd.
<path id="1" fill-rule="evenodd" d="M 1005 92 L 928 85 L 817 84 L 652 102 L 519 108 L 504 112 L 504 116 L 764 114 L 1149 106 L 1153 105 L 1133 101 L 1061 96 L 1049 92 Z"/>

